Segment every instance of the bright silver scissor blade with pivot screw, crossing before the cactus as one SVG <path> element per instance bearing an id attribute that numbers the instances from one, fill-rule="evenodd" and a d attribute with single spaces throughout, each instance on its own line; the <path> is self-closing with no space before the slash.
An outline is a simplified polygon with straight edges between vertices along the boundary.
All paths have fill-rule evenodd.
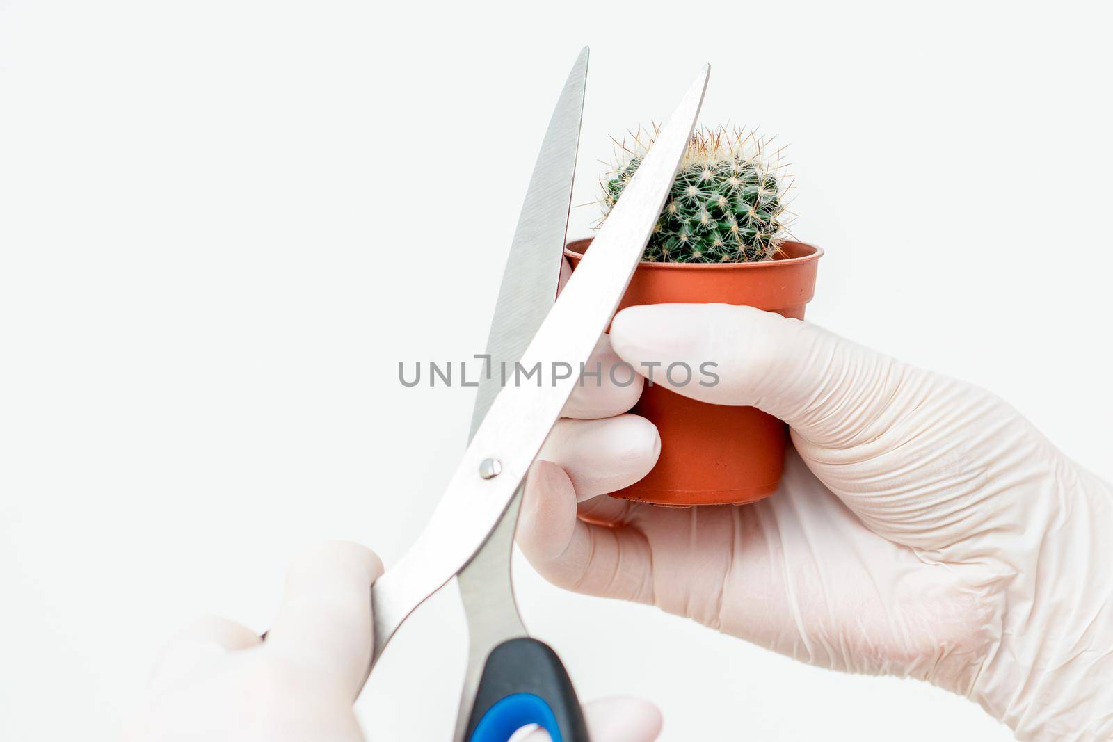
<path id="1" fill-rule="evenodd" d="M 511 384 L 495 397 L 425 530 L 372 587 L 372 663 L 406 616 L 483 545 L 560 417 L 578 374 L 561 378 L 555 365 L 579 370 L 614 314 L 688 148 L 709 72 L 705 66 L 692 82 L 522 354 L 524 368 L 541 368 L 538 386 Z"/>

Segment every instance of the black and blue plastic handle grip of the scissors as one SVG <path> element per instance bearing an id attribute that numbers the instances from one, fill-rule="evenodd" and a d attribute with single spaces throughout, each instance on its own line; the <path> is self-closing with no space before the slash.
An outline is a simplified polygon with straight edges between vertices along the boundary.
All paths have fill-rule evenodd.
<path id="1" fill-rule="evenodd" d="M 560 657 L 544 642 L 522 636 L 487 655 L 464 739 L 506 742 L 526 724 L 544 728 L 552 742 L 590 742 Z"/>

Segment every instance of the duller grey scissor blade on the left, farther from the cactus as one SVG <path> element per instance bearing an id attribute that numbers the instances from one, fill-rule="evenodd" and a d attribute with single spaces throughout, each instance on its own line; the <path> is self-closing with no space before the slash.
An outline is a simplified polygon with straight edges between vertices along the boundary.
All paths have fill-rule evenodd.
<path id="1" fill-rule="evenodd" d="M 584 47 L 568 73 L 549 120 L 518 217 L 487 335 L 491 373 L 480 380 L 472 413 L 472 435 L 502 387 L 501 364 L 513 366 L 522 357 L 556 299 L 587 85 L 588 48 Z"/>

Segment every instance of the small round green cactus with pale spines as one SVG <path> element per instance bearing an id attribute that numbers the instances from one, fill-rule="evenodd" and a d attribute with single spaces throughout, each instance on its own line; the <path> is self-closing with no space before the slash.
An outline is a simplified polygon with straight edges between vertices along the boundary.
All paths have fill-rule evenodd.
<path id="1" fill-rule="evenodd" d="M 617 162 L 602 179 L 603 218 L 614 207 L 649 148 L 653 132 L 614 139 Z M 790 185 L 780 149 L 755 132 L 700 128 L 688 145 L 669 200 L 646 246 L 652 263 L 771 260 L 788 237 L 785 196 Z"/>

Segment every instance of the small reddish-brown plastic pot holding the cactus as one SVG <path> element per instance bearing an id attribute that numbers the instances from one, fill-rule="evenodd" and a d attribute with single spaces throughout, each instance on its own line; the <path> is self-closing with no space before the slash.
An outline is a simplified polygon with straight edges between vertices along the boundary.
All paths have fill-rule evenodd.
<path id="1" fill-rule="evenodd" d="M 590 239 L 564 250 L 574 269 Z M 641 263 L 620 309 L 641 304 L 736 304 L 804 319 L 824 251 L 785 243 L 766 263 Z M 737 505 L 777 491 L 788 427 L 755 407 L 727 407 L 646 385 L 631 410 L 661 434 L 661 456 L 646 477 L 613 497 L 656 505 Z"/>

